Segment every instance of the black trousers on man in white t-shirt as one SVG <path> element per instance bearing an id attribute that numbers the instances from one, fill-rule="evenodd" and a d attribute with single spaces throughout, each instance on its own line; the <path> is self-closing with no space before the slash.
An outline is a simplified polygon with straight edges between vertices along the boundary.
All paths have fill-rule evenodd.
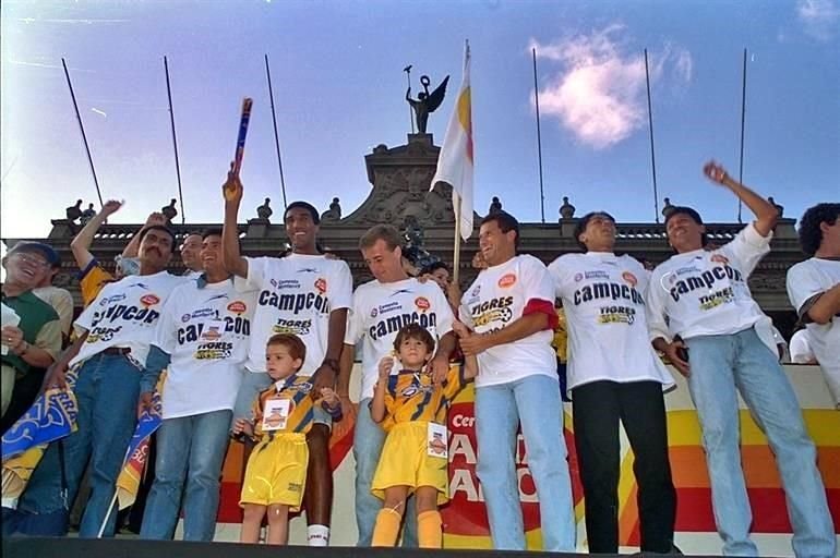
<path id="1" fill-rule="evenodd" d="M 668 460 L 662 385 L 592 381 L 573 390 L 572 404 L 589 551 L 619 551 L 621 420 L 635 456 L 641 550 L 668 553 L 674 538 L 676 490 Z"/>

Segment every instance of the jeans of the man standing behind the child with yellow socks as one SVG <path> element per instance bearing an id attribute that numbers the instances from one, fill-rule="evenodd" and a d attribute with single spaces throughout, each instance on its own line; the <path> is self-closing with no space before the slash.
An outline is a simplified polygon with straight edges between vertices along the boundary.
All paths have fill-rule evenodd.
<path id="1" fill-rule="evenodd" d="M 373 422 L 370 409 L 371 399 L 359 401 L 353 430 L 353 458 L 356 459 L 356 524 L 359 527 L 357 546 L 371 546 L 376 514 L 382 509 L 382 500 L 371 493 L 373 474 L 380 462 L 382 446 L 385 444 L 385 430 Z M 406 505 L 403 531 L 403 547 L 417 548 L 417 509 L 413 500 Z"/>

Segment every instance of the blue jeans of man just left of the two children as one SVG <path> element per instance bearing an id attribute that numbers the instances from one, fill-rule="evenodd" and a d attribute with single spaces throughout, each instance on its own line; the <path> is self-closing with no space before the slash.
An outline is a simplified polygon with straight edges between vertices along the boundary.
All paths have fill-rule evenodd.
<path id="1" fill-rule="evenodd" d="M 229 410 L 213 411 L 167 418 L 160 424 L 155 483 L 143 513 L 141 538 L 172 538 L 183 494 L 183 539 L 213 541 L 232 414 Z"/>

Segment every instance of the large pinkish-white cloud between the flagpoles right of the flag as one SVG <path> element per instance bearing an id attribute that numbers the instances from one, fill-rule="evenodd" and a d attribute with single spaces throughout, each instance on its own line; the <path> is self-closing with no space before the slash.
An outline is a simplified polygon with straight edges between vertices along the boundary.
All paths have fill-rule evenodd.
<path id="1" fill-rule="evenodd" d="M 624 45 L 623 33 L 623 25 L 613 24 L 547 45 L 531 40 L 529 47 L 559 64 L 540 89 L 540 111 L 596 149 L 625 140 L 647 118 L 645 58 Z M 648 61 L 651 82 L 665 74 L 676 83 L 692 78 L 692 56 L 684 48 L 665 44 L 659 52 L 649 52 Z"/>

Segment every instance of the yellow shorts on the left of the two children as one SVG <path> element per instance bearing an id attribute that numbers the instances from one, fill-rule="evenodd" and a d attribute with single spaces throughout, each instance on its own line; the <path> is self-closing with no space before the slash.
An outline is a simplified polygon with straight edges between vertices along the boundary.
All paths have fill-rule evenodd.
<path id="1" fill-rule="evenodd" d="M 248 459 L 239 505 L 271 506 L 283 504 L 291 511 L 300 510 L 307 484 L 309 447 L 302 433 L 276 434 L 254 447 Z"/>

